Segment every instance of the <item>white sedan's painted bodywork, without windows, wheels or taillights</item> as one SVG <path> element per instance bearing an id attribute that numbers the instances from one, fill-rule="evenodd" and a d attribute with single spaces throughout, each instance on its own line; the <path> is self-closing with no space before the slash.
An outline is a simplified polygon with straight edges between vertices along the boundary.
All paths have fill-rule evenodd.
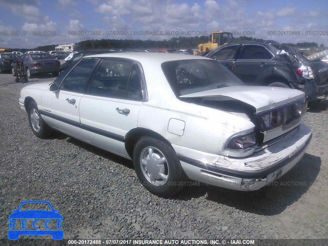
<path id="1" fill-rule="evenodd" d="M 189 178 L 235 190 L 260 189 L 279 178 L 296 165 L 311 139 L 311 130 L 300 122 L 288 136 L 271 146 L 268 144 L 251 156 L 234 158 L 227 154 L 227 142 L 232 136 L 253 131 L 256 126 L 252 120 L 243 113 L 187 103 L 181 100 L 183 97 L 223 96 L 251 105 L 258 113 L 302 99 L 304 93 L 285 88 L 239 86 L 177 98 L 161 64 L 171 60 L 209 58 L 135 52 L 88 57 L 119 57 L 140 63 L 146 80 L 147 100 L 115 99 L 62 90 L 53 93 L 49 91 L 49 83 L 40 83 L 22 89 L 20 106 L 26 109 L 26 102 L 32 98 L 50 127 L 129 159 L 125 141 L 130 131 L 155 132 L 170 142 Z M 75 104 L 69 104 L 66 99 L 75 99 Z M 121 114 L 117 108 L 129 109 L 130 113 Z M 75 126 L 70 122 L 76 123 Z M 272 131 L 269 138 L 283 133 L 279 129 Z M 273 170 L 274 167 L 277 169 Z M 270 172 L 263 174 L 263 170 Z M 257 172 L 261 176 L 253 177 Z"/>

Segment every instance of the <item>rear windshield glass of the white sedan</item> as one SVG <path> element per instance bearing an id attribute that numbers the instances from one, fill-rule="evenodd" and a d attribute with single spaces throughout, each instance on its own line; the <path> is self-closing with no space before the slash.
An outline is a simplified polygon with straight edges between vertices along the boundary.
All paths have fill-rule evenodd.
<path id="1" fill-rule="evenodd" d="M 161 65 L 175 95 L 241 86 L 242 81 L 215 60 L 167 61 Z"/>

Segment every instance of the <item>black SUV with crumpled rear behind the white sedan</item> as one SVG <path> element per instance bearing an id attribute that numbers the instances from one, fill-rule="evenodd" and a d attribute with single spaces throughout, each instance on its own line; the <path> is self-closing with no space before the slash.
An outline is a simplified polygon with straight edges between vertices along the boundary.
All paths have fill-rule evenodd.
<path id="1" fill-rule="evenodd" d="M 301 90 L 309 101 L 328 94 L 328 64 L 310 61 L 293 47 L 272 40 L 229 43 L 206 57 L 217 60 L 245 84 Z"/>

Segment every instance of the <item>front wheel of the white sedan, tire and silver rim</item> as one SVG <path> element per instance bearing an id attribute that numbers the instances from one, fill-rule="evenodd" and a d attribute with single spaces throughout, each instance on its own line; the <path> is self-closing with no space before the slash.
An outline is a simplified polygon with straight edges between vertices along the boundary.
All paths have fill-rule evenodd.
<path id="1" fill-rule="evenodd" d="M 47 138 L 51 133 L 51 128 L 47 125 L 44 121 L 42 116 L 39 113 L 37 105 L 35 101 L 32 101 L 28 105 L 28 117 L 29 117 L 29 124 L 32 132 L 35 136 L 39 138 Z"/>

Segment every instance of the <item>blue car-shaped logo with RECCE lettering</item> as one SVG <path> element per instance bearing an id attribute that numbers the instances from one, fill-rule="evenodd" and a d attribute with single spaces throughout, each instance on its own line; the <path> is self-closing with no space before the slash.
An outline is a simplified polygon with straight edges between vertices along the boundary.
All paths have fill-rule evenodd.
<path id="1" fill-rule="evenodd" d="M 23 204 L 26 203 L 45 203 L 49 205 L 49 210 L 21 210 Z M 29 204 L 36 206 L 37 204 Z M 63 216 L 58 210 L 52 208 L 49 201 L 23 201 L 18 209 L 14 209 L 9 215 L 8 238 L 17 240 L 20 235 L 51 235 L 53 239 L 60 240 L 64 238 L 62 230 Z M 18 220 L 21 220 L 18 223 Z M 31 230 L 29 230 L 31 229 Z"/>

